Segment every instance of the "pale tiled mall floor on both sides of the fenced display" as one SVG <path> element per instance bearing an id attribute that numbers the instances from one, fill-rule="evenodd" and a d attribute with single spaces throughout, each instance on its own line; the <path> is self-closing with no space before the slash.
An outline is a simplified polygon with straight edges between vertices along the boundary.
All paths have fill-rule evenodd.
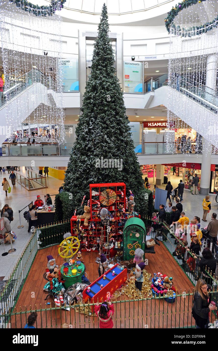
<path id="1" fill-rule="evenodd" d="M 33 168 L 34 170 L 34 168 Z M 25 167 L 21 168 L 21 173 L 25 174 Z M 9 174 L 6 172 L 5 174 L 6 178 L 9 180 Z M 2 182 L 4 178 L 4 175 L 0 175 L 0 181 Z M 171 175 L 171 184 L 173 186 L 173 189 L 178 185 L 179 183 L 179 177 L 172 176 Z M 14 211 L 14 220 L 11 223 L 12 230 L 16 233 L 17 239 L 13 243 L 13 247 L 16 249 L 15 253 L 8 254 L 7 256 L 1 256 L 2 253 L 4 252 L 4 246 L 1 244 L 0 246 L 0 277 L 4 277 L 4 280 L 7 279 L 7 277 L 10 275 L 14 265 L 16 264 L 17 260 L 19 259 L 23 248 L 25 247 L 29 237 L 30 233 L 27 232 L 28 230 L 28 223 L 25 221 L 23 218 L 23 212 L 21 212 L 21 224 L 24 225 L 22 229 L 18 229 L 19 226 L 19 213 L 18 210 L 21 210 L 23 207 L 28 205 L 31 201 L 35 201 L 36 195 L 40 194 L 41 198 L 44 200 L 44 195 L 46 193 L 49 194 L 57 194 L 60 185 L 63 183 L 62 180 L 58 180 L 56 178 L 48 177 L 47 178 L 47 185 L 48 188 L 46 188 L 43 191 L 39 190 L 33 190 L 33 191 L 27 191 L 24 187 L 16 183 L 16 187 L 12 187 L 12 191 L 10 194 L 8 194 L 8 197 L 6 198 L 5 192 L 0 191 L 0 207 L 2 208 L 5 204 L 8 204 L 10 207 L 12 207 Z M 11 183 L 11 181 L 10 181 Z M 149 178 L 149 183 L 151 183 L 151 188 L 150 190 L 153 190 L 154 184 L 153 183 L 153 178 Z M 163 189 L 165 189 L 166 185 L 159 186 Z M 211 195 L 210 200 L 211 200 L 211 205 L 214 206 L 212 207 L 212 210 L 209 214 L 207 214 L 207 222 L 202 221 L 202 215 L 203 215 L 203 210 L 202 210 L 202 201 L 203 201 L 203 196 L 202 195 L 191 195 L 190 190 L 185 190 L 184 195 L 183 195 L 183 211 L 185 212 L 186 216 L 189 217 L 189 219 L 193 219 L 194 216 L 200 217 L 201 220 L 201 226 L 205 227 L 208 225 L 209 220 L 211 218 L 212 212 L 216 212 L 218 214 L 218 204 L 215 201 L 215 196 Z M 52 197 L 53 203 L 54 203 L 54 196 Z M 173 201 L 172 201 L 173 202 Z M 167 203 L 166 203 L 167 204 Z M 175 205 L 175 201 L 173 202 L 173 205 Z M 140 212 L 140 211 L 139 211 Z M 188 241 L 190 241 L 190 238 L 188 238 Z M 5 251 L 7 252 L 11 248 L 10 244 L 5 244 Z"/>

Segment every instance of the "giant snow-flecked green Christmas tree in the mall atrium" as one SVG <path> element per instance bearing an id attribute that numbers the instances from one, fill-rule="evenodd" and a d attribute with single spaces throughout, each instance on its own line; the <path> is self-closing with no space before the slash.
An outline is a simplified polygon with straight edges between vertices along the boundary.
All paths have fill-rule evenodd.
<path id="1" fill-rule="evenodd" d="M 65 174 L 64 191 L 73 194 L 69 201 L 70 214 L 73 215 L 75 208 L 80 214 L 83 212 L 83 206 L 80 208 L 83 196 L 86 195 L 84 204 L 89 199 L 90 183 L 124 182 L 127 196 L 129 190 L 135 194 L 134 210 L 144 216 L 148 207 L 152 211 L 153 199 L 151 192 L 143 186 L 108 33 L 107 7 L 104 4 L 82 115 L 76 127 L 76 142 Z M 110 159 L 118 160 L 117 168 L 109 168 Z"/>

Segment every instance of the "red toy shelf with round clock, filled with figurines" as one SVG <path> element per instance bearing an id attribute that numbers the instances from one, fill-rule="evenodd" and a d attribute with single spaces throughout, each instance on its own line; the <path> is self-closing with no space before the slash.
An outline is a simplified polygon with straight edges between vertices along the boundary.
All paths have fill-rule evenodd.
<path id="1" fill-rule="evenodd" d="M 105 207 L 109 211 L 109 217 L 114 221 L 110 221 L 110 232 L 107 233 L 107 227 L 103 226 L 103 247 L 107 251 L 107 242 L 111 242 L 109 246 L 113 249 L 116 244 L 117 248 L 122 250 L 123 226 L 125 224 L 125 208 L 126 208 L 126 189 L 124 183 L 103 183 L 89 184 L 90 187 L 90 206 L 91 218 L 89 225 L 83 225 L 83 219 L 80 221 L 78 228 L 77 218 L 71 218 L 71 234 L 81 237 L 81 250 L 98 250 L 101 237 L 101 208 Z M 77 233 L 78 232 L 78 233 Z M 117 242 L 117 243 L 116 243 Z M 119 244 L 118 244 L 119 243 Z M 104 251 L 104 249 L 103 249 Z M 111 252 L 111 251 L 110 251 Z"/>

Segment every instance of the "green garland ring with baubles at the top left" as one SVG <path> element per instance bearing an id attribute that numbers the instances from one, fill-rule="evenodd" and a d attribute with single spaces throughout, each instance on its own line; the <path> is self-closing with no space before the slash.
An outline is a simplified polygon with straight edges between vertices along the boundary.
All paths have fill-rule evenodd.
<path id="1" fill-rule="evenodd" d="M 61 10 L 63 8 L 63 4 L 67 0 L 61 0 L 61 1 L 55 1 L 51 0 L 49 6 L 39 6 L 39 5 L 33 5 L 31 2 L 28 2 L 26 0 L 9 0 L 16 4 L 17 7 L 20 7 L 22 10 L 27 11 L 29 13 L 33 13 L 36 16 L 52 16 L 56 10 Z"/>

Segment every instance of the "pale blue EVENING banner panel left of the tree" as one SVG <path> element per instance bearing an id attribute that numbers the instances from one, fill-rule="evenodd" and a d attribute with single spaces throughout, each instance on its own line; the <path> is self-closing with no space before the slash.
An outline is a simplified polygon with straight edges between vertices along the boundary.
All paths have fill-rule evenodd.
<path id="1" fill-rule="evenodd" d="M 61 59 L 59 67 L 63 75 L 63 92 L 79 91 L 78 60 Z"/>

